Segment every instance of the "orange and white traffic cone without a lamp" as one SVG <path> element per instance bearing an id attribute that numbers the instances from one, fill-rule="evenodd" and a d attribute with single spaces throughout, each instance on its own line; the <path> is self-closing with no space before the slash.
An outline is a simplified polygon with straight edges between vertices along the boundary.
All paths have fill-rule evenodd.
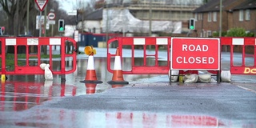
<path id="1" fill-rule="evenodd" d="M 114 72 L 112 81 L 109 81 L 107 83 L 109 84 L 129 84 L 129 82 L 126 82 L 123 80 L 122 77 L 122 66 L 121 66 L 121 57 L 119 53 L 119 48 L 117 47 L 117 51 L 114 58 Z"/>

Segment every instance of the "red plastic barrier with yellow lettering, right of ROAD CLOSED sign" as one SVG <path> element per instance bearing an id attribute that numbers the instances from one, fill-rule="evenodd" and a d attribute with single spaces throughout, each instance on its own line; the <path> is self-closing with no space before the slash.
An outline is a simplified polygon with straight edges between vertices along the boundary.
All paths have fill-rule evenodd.
<path id="1" fill-rule="evenodd" d="M 230 72 L 231 74 L 256 74 L 256 38 L 220 38 L 222 46 L 230 46 Z M 242 47 L 242 62 L 234 60 L 234 48 Z M 246 46 L 254 48 L 254 54 L 246 54 Z M 253 65 L 246 65 L 246 58 L 254 59 Z M 238 62 L 239 64 L 236 64 Z"/>

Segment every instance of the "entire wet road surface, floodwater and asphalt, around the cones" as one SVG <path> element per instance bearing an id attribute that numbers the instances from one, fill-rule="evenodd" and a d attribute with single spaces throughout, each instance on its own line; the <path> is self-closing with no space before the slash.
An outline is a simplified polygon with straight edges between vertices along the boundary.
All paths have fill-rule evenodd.
<path id="1" fill-rule="evenodd" d="M 79 82 L 86 76 L 85 55 L 66 82 L 58 75 L 54 81 L 9 76 L 1 83 L 1 127 L 256 127 L 255 75 L 190 84 L 170 84 L 167 75 L 124 75 L 129 85 L 109 85 L 106 58 L 98 56 L 102 84 Z M 222 65 L 228 69 L 228 59 Z"/>

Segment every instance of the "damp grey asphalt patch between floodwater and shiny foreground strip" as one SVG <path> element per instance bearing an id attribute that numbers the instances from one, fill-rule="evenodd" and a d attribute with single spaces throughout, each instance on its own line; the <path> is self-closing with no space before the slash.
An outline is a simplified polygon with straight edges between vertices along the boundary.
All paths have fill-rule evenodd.
<path id="1" fill-rule="evenodd" d="M 219 118 L 253 120 L 256 119 L 255 96 L 254 92 L 229 83 L 150 83 L 114 88 L 100 94 L 65 98 L 45 106 L 71 110 L 209 114 Z"/>

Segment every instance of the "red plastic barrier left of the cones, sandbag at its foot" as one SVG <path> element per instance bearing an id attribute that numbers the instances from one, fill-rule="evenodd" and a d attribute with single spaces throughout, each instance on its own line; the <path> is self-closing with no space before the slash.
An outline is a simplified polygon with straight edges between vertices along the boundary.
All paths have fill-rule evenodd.
<path id="1" fill-rule="evenodd" d="M 66 42 L 72 43 L 72 46 L 76 48 L 76 42 L 73 38 L 66 38 L 66 37 L 47 37 L 47 38 L 38 38 L 38 37 L 22 37 L 22 38 L 0 38 L 1 41 L 1 60 L 2 60 L 2 69 L 1 74 L 44 74 L 44 70 L 40 68 L 40 64 L 45 61 L 49 61 L 50 64 L 50 70 L 53 74 L 70 74 L 73 73 L 76 70 L 76 52 L 75 50 L 72 51 L 72 53 L 66 53 Z M 14 70 L 9 70 L 8 67 L 6 68 L 6 53 L 7 47 L 12 47 L 14 49 Z M 47 48 L 47 54 L 49 54 L 49 58 L 46 60 L 42 60 L 41 55 L 42 53 L 42 46 L 45 46 Z M 53 69 L 53 55 L 54 48 L 56 46 L 59 47 L 60 52 L 60 67 L 59 70 Z M 24 47 L 24 49 L 20 49 L 20 47 Z M 31 51 L 31 49 L 34 48 L 34 53 Z M 26 58 L 23 61 L 26 61 L 26 64 L 24 66 L 20 66 L 18 64 L 18 60 L 22 60 L 21 58 L 18 58 L 19 52 L 22 50 L 26 54 Z M 58 51 L 59 51 L 58 50 Z M 66 59 L 72 58 L 73 67 L 71 70 L 66 70 Z M 31 60 L 34 60 L 33 65 L 31 66 Z M 48 62 L 47 62 L 48 63 Z"/>

